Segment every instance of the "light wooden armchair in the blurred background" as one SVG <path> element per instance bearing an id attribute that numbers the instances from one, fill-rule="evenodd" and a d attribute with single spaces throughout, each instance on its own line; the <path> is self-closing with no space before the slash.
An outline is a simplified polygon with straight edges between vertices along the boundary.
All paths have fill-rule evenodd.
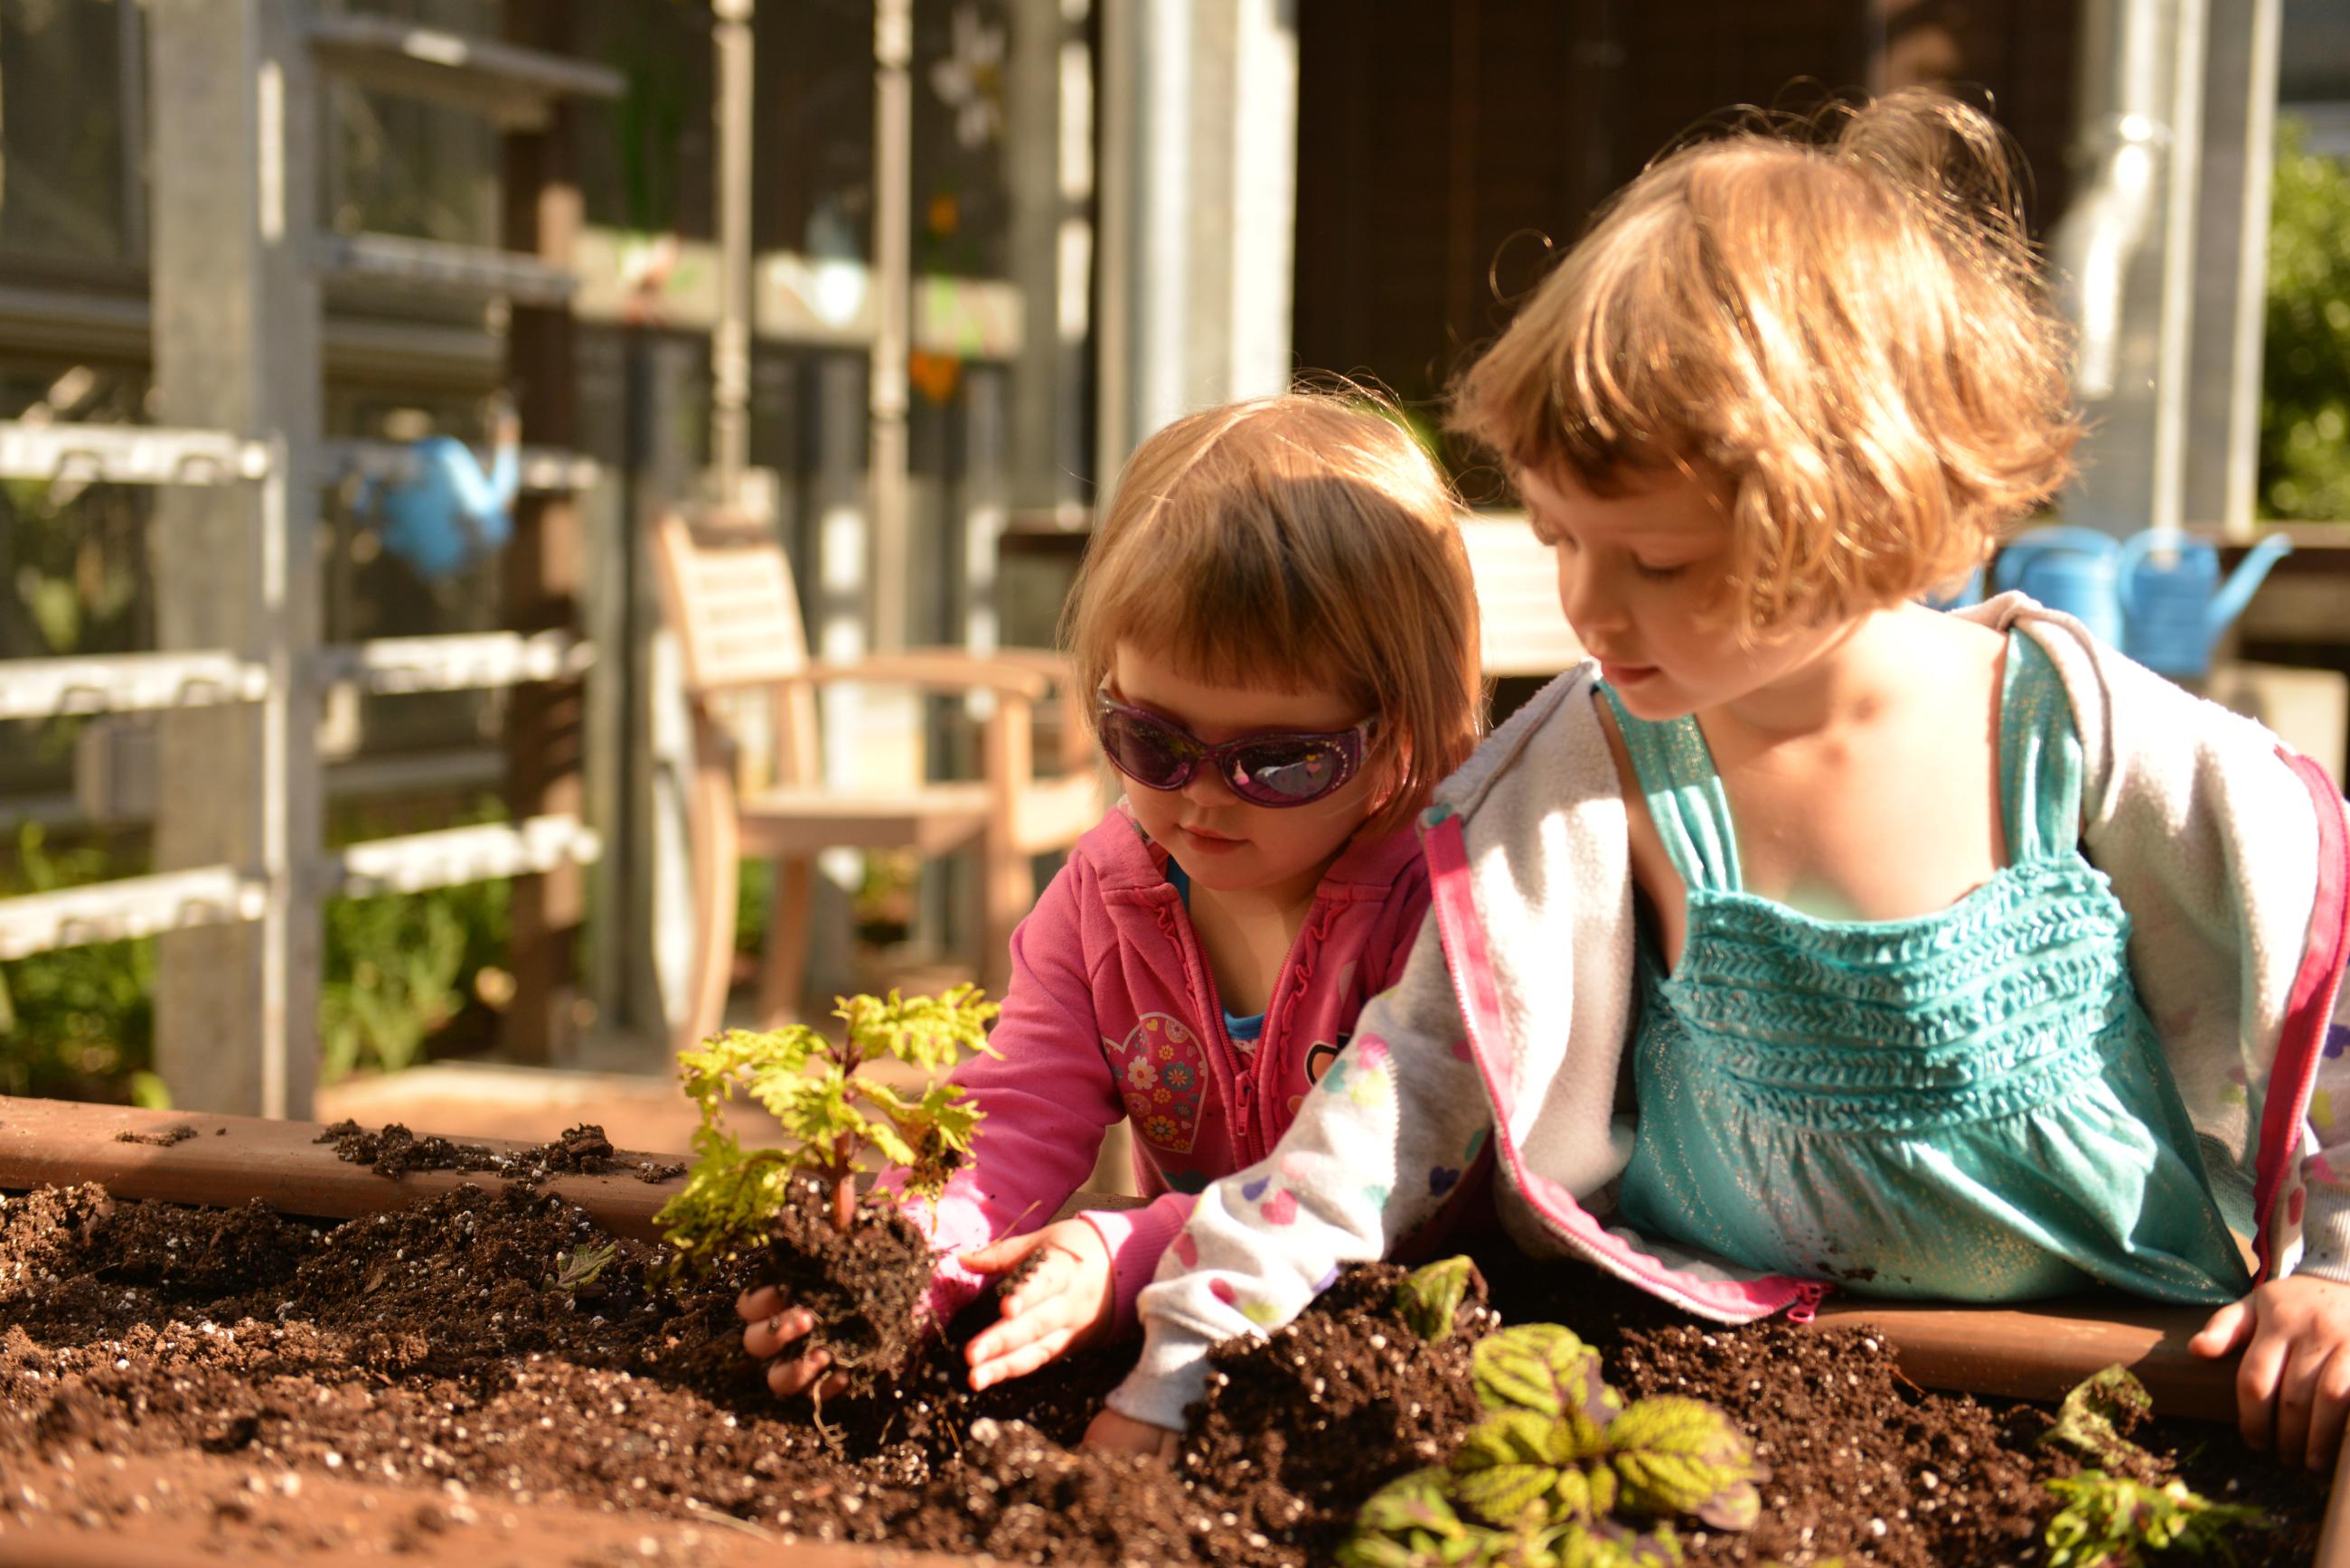
<path id="1" fill-rule="evenodd" d="M 1036 898 L 1029 856 L 1067 849 L 1102 816 L 1100 771 L 1058 654 L 966 649 L 872 654 L 855 663 L 808 658 L 792 567 L 773 531 L 726 517 L 670 512 L 653 548 L 663 604 L 684 651 L 693 708 L 693 788 L 686 825 L 693 844 L 696 961 L 682 1046 L 719 1027 L 733 969 L 736 884 L 743 856 L 776 860 L 776 910 L 759 969 L 759 1020 L 773 1025 L 799 1004 L 806 976 L 813 856 L 830 846 L 912 849 L 924 858 L 975 846 L 980 853 L 980 983 L 1003 994 L 1013 926 Z M 898 790 L 825 785 L 815 691 L 830 682 L 914 686 L 938 693 L 987 691 L 982 766 L 975 780 Z M 740 748 L 724 693 L 761 691 L 776 729 L 776 776 L 745 788 Z M 1058 693 L 1060 771 L 1034 776 L 1036 703 Z"/>

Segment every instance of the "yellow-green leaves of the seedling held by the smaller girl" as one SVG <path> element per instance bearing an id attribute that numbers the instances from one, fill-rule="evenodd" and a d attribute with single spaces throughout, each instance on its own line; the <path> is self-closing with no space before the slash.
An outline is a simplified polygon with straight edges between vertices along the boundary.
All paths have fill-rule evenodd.
<path id="1" fill-rule="evenodd" d="M 945 1072 L 966 1051 L 994 1056 L 987 1023 L 996 1004 L 975 985 L 956 985 L 942 997 L 844 997 L 832 1016 L 848 1025 L 839 1041 L 790 1025 L 726 1030 L 679 1053 L 679 1077 L 700 1107 L 700 1126 L 686 1185 L 656 1215 L 679 1267 L 707 1272 L 766 1246 L 792 1182 L 804 1175 L 825 1182 L 832 1227 L 848 1234 L 858 1215 L 855 1178 L 870 1173 L 877 1157 L 907 1171 L 905 1190 L 916 1197 L 938 1197 L 971 1157 L 980 1112 Z M 860 1077 L 884 1058 L 921 1070 L 921 1091 Z M 726 1128 L 736 1093 L 764 1105 L 792 1145 L 745 1150 Z"/>

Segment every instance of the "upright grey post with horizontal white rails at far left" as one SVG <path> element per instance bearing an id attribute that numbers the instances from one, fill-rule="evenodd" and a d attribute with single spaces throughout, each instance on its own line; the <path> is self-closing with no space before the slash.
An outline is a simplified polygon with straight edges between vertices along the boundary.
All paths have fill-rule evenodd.
<path id="1" fill-rule="evenodd" d="M 562 16 L 559 0 L 515 5 Z M 150 0 L 148 26 L 155 388 L 164 416 L 193 428 L 0 423 L 0 477 L 162 487 L 153 527 L 167 646 L 0 661 L 0 719 L 160 715 L 162 870 L 0 900 L 0 959 L 172 933 L 155 1013 L 174 1098 L 306 1117 L 324 898 L 533 877 L 599 853 L 578 813 L 322 844 L 315 729 L 331 686 L 569 682 L 595 649 L 569 628 L 320 644 L 320 496 L 355 475 L 400 480 L 414 463 L 397 444 L 322 440 L 322 280 L 498 299 L 517 313 L 569 313 L 578 280 L 545 242 L 524 254 L 320 233 L 306 106 L 317 73 L 334 71 L 529 139 L 559 127 L 566 99 L 618 96 L 623 78 L 310 0 Z M 526 433 L 529 421 L 526 402 Z M 524 454 L 524 491 L 540 505 L 597 480 L 592 461 L 559 447 Z"/>

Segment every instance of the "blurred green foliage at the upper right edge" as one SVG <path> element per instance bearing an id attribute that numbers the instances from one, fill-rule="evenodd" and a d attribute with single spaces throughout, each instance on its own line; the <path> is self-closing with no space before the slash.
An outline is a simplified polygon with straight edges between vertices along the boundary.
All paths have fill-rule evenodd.
<path id="1" fill-rule="evenodd" d="M 2350 165 L 2277 127 L 2261 371 L 2263 517 L 2350 522 Z"/>

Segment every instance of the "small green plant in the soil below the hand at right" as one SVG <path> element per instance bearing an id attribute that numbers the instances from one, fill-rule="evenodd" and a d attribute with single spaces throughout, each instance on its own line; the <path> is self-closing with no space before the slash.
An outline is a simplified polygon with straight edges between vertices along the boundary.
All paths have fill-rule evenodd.
<path id="1" fill-rule="evenodd" d="M 2155 1554 L 2164 1561 L 2216 1554 L 2232 1563 L 2228 1537 L 2242 1528 L 2268 1528 L 2261 1509 L 2211 1502 L 2176 1476 L 2138 1481 L 2115 1474 L 2162 1469 L 2153 1453 L 2124 1436 L 2124 1427 L 2153 1408 L 2146 1385 L 2127 1366 L 2108 1366 L 2063 1396 L 2040 1443 L 2073 1448 L 2096 1469 L 2044 1483 L 2063 1502 L 2042 1537 L 2047 1568 L 2146 1568 Z"/>

